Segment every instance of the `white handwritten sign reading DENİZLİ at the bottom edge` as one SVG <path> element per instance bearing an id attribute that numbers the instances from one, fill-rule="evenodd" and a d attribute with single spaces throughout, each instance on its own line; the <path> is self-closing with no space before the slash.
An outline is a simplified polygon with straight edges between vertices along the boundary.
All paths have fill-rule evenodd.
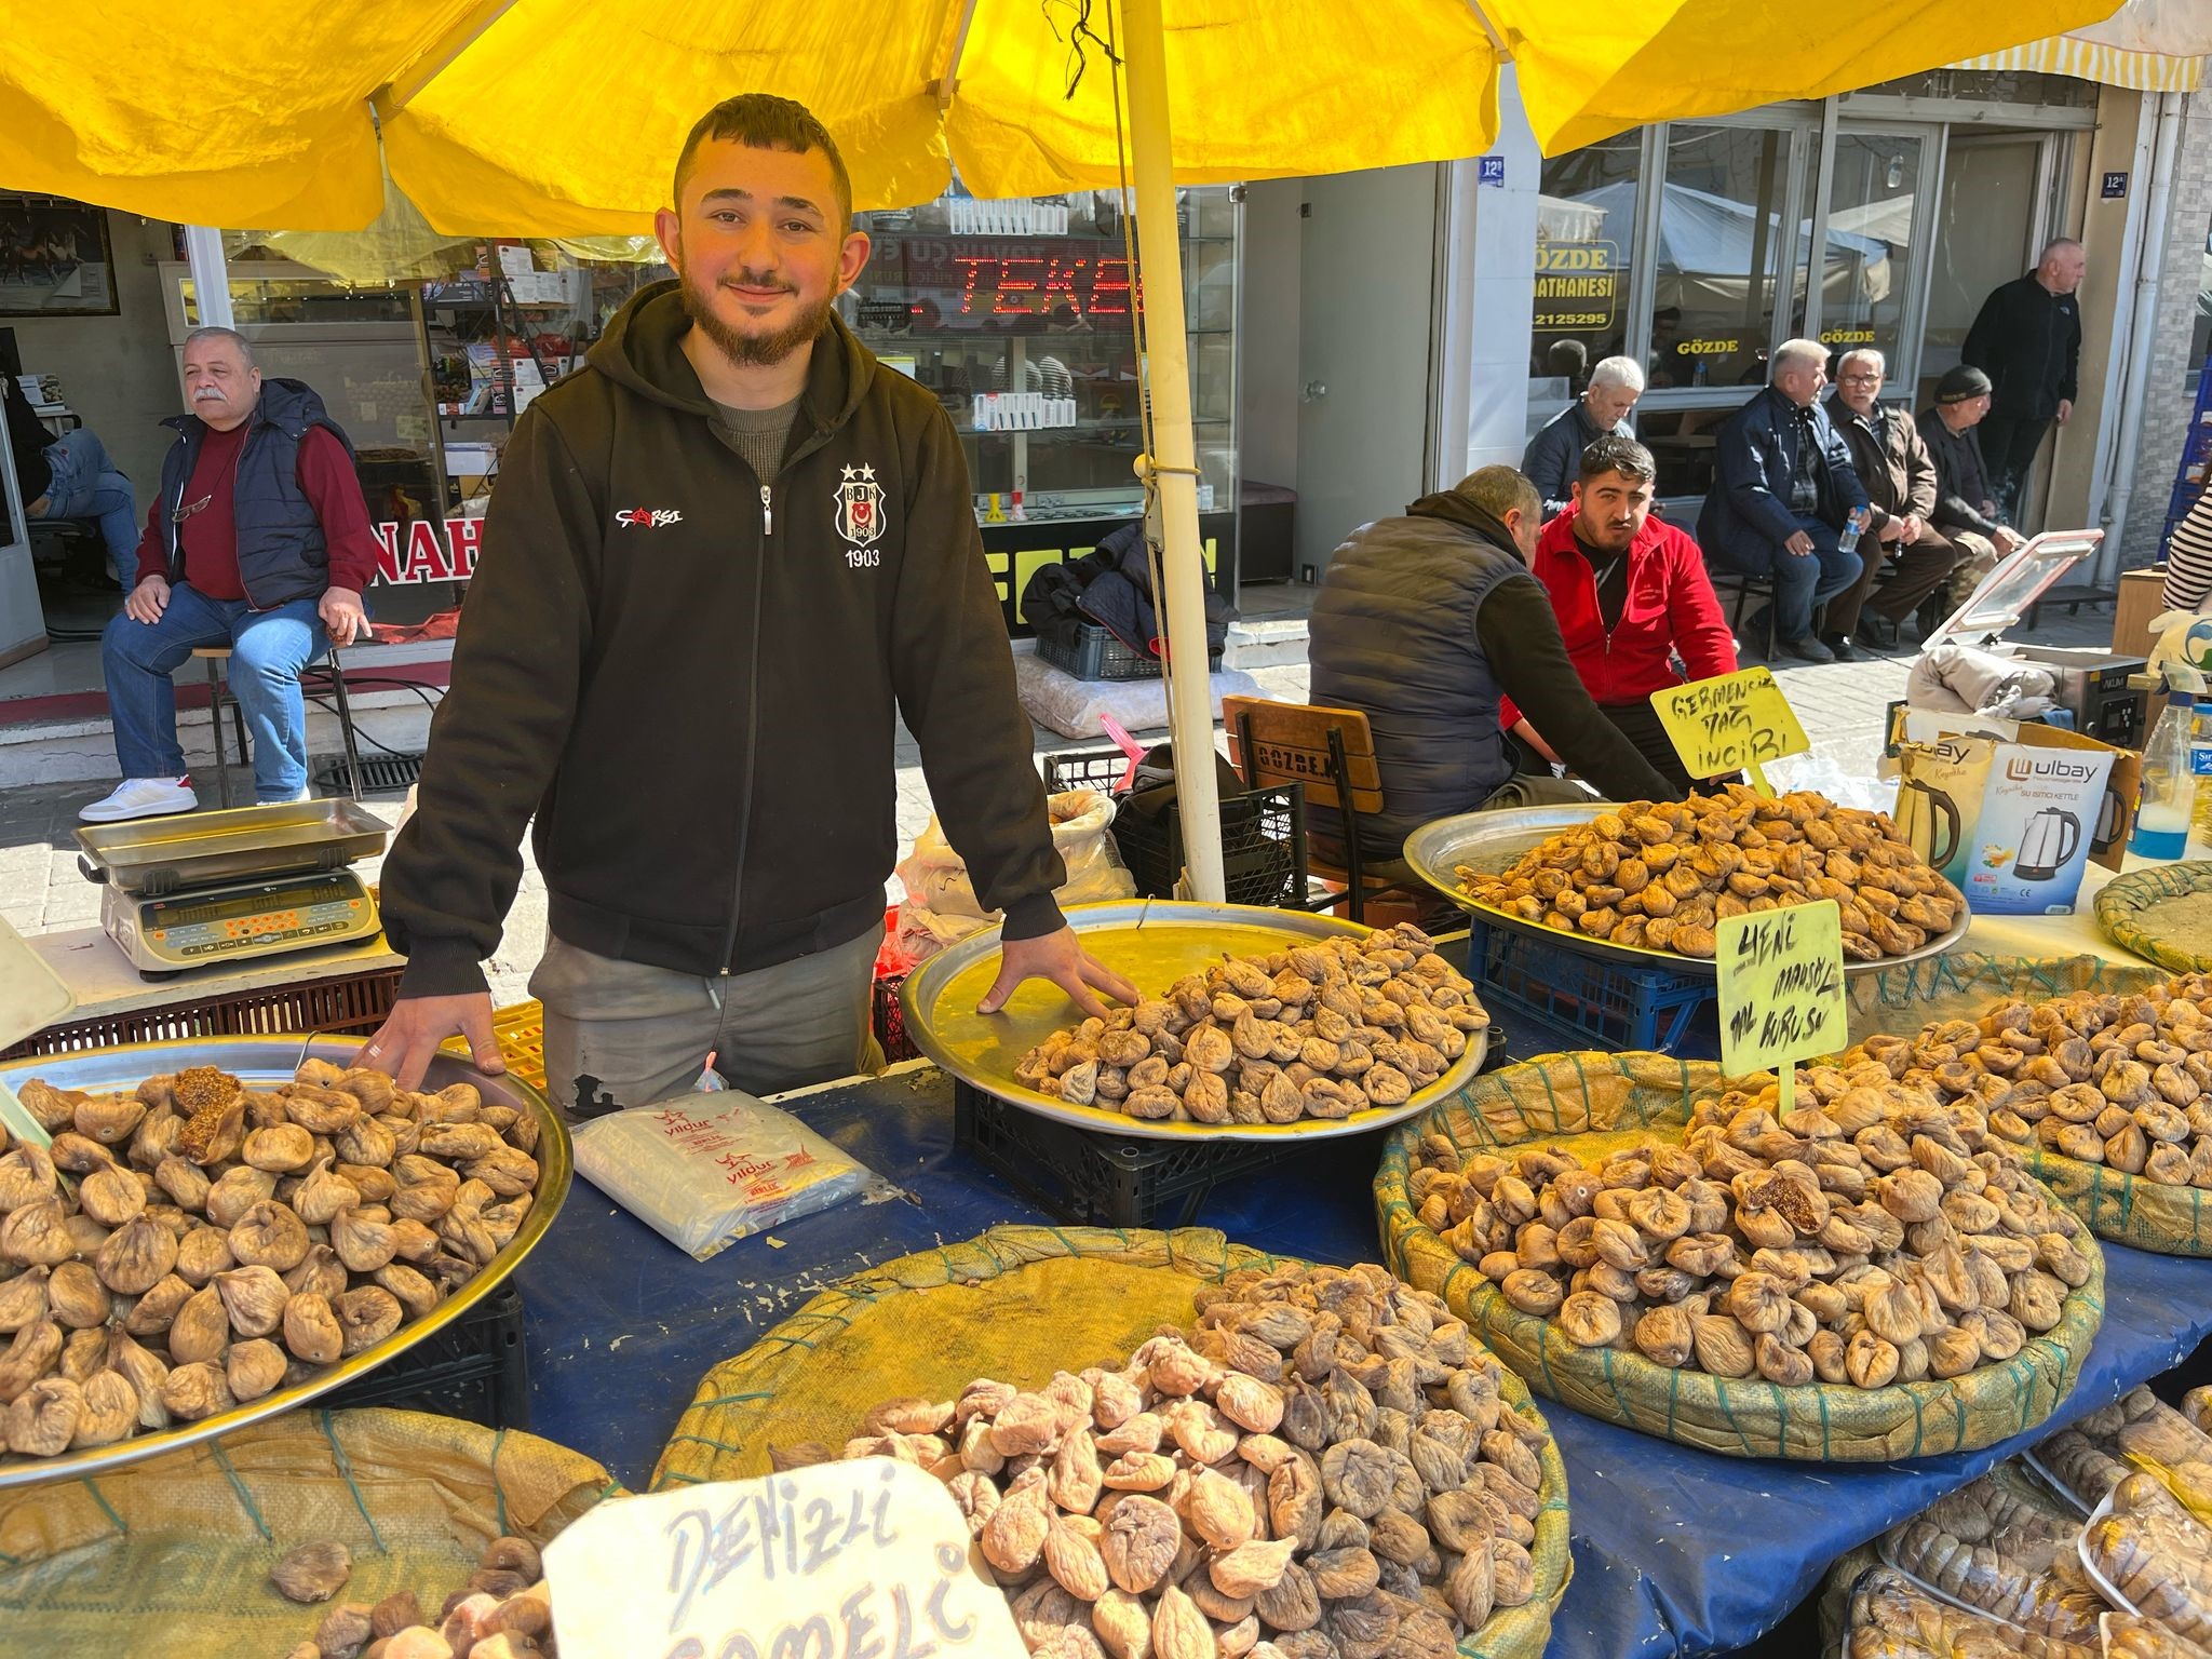
<path id="1" fill-rule="evenodd" d="M 1024 1659 L 951 1493 L 889 1458 L 615 1498 L 546 1582 L 566 1659 Z"/>

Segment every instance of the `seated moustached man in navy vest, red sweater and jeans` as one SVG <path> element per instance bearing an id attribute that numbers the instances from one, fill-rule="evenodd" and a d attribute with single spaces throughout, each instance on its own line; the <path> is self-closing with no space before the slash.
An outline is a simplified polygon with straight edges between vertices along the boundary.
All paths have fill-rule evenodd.
<path id="1" fill-rule="evenodd" d="M 199 805 L 170 675 L 201 646 L 230 648 L 254 799 L 305 801 L 299 672 L 367 633 L 361 591 L 376 575 L 376 533 L 354 449 L 323 400 L 299 380 L 263 380 L 228 327 L 186 336 L 184 396 L 190 414 L 164 422 L 177 442 L 161 460 L 135 586 L 100 641 L 124 781 L 77 814 L 86 823 Z"/>

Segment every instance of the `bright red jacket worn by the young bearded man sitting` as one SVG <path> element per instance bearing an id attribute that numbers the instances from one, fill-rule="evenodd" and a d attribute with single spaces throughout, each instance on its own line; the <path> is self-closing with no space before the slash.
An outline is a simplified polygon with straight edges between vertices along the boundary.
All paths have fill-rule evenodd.
<path id="1" fill-rule="evenodd" d="M 1597 611 L 1597 573 L 1575 546 L 1573 511 L 1544 526 L 1533 568 L 1590 701 L 1641 703 L 1655 690 L 1683 684 L 1670 661 L 1677 650 L 1690 679 L 1736 672 L 1736 639 L 1712 595 L 1705 555 L 1672 524 L 1648 518 L 1630 542 L 1628 604 L 1610 635 Z M 1498 710 L 1509 732 L 1520 717 L 1513 699 Z"/>

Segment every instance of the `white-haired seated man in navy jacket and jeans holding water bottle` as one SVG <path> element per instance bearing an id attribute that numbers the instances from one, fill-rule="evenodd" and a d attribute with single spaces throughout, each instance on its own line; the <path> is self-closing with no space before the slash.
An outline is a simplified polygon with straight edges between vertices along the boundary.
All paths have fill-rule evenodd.
<path id="1" fill-rule="evenodd" d="M 1783 341 L 1772 383 L 1714 434 L 1714 480 L 1697 518 L 1697 542 L 1723 568 L 1774 582 L 1774 635 L 1803 661 L 1836 661 L 1814 639 L 1812 613 L 1858 582 L 1865 562 L 1845 551 L 1867 491 L 1851 449 L 1820 409 L 1827 347 Z M 1767 613 L 1745 619 L 1743 644 L 1765 635 Z"/>

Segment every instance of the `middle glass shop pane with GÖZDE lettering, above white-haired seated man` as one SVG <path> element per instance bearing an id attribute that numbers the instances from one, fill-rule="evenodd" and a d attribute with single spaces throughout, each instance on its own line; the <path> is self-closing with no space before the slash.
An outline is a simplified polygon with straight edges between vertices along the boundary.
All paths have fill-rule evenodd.
<path id="1" fill-rule="evenodd" d="M 1801 237 L 1783 234 L 1792 133 L 1674 122 L 1652 272 L 1650 385 L 1759 387 Z"/>

